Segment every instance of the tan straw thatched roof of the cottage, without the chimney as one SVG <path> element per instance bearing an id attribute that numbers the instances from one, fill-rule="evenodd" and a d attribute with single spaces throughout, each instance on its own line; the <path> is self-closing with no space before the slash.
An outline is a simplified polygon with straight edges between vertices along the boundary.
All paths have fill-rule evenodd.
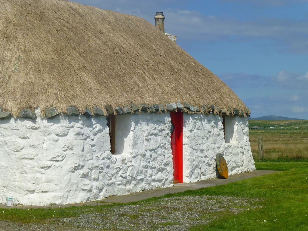
<path id="1" fill-rule="evenodd" d="M 0 106 L 65 113 L 106 104 L 245 110 L 216 75 L 146 20 L 64 0 L 0 0 Z M 43 110 L 42 110 L 43 109 Z"/>

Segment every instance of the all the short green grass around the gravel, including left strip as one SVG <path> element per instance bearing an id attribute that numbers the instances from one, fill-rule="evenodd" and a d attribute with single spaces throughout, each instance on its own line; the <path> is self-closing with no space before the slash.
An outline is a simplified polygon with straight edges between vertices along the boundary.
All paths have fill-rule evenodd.
<path id="1" fill-rule="evenodd" d="M 167 194 L 160 198 L 222 195 L 262 199 L 257 209 L 237 214 L 228 211 L 221 212 L 217 216 L 218 219 L 214 219 L 208 224 L 191 227 L 190 230 L 308 230 L 308 163 L 257 162 L 256 167 L 257 169 L 280 170 L 282 172 L 215 187 Z M 151 198 L 146 201 L 155 202 L 157 200 L 157 198 Z M 145 201 L 130 203 L 130 205 L 141 205 L 142 202 Z M 120 204 L 59 209 L 4 209 L 4 212 L 0 213 L 0 220 L 44 223 L 49 222 L 48 219 L 53 216 L 57 218 L 77 217 L 89 212 L 103 213 L 104 209 L 114 206 L 120 206 Z M 189 213 L 189 211 L 187 212 Z M 134 221 L 137 222 L 137 220 L 138 217 L 134 217 Z M 164 223 L 166 227 L 172 224 Z"/>

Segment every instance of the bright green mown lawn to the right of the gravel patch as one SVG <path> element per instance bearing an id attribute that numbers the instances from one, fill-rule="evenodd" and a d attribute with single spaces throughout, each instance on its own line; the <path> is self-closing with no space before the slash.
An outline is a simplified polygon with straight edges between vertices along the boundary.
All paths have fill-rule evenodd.
<path id="1" fill-rule="evenodd" d="M 191 230 L 308 230 L 308 163 L 256 163 L 256 167 L 283 172 L 203 188 L 191 195 L 258 197 L 264 199 L 262 208 L 225 214 Z"/>

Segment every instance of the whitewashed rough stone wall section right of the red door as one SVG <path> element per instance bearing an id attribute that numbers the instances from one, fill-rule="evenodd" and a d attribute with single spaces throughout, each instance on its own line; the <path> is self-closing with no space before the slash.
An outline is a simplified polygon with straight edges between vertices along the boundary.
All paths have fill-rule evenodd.
<path id="1" fill-rule="evenodd" d="M 254 171 L 254 161 L 245 117 L 227 117 L 225 142 L 222 117 L 218 115 L 184 113 L 183 178 L 184 183 L 216 178 L 216 154 L 227 162 L 229 175 Z"/>

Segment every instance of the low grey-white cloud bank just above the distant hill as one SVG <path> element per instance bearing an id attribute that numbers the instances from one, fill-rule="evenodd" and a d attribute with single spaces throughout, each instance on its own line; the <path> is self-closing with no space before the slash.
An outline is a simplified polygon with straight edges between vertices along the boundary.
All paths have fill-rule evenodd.
<path id="1" fill-rule="evenodd" d="M 219 77 L 240 96 L 253 117 L 281 115 L 308 119 L 308 79 L 302 74 L 280 71 L 274 76 L 224 73 Z"/>

